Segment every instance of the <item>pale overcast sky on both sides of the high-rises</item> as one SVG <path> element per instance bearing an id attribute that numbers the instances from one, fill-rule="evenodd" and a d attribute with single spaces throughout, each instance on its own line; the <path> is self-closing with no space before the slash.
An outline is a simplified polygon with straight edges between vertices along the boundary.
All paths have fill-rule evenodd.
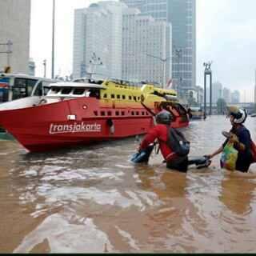
<path id="1" fill-rule="evenodd" d="M 30 57 L 36 74 L 42 61 L 51 67 L 52 0 L 32 0 Z M 97 0 L 56 0 L 55 74 L 72 72 L 74 9 Z M 203 62 L 213 61 L 213 80 L 240 90 L 241 101 L 253 101 L 256 69 L 256 1 L 197 0 L 197 84 L 203 86 Z"/>

